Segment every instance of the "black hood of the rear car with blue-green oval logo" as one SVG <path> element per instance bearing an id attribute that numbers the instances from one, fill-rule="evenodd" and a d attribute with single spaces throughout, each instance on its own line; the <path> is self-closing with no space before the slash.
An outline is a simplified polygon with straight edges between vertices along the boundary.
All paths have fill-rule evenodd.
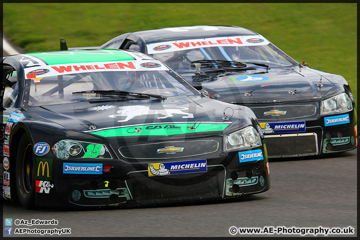
<path id="1" fill-rule="evenodd" d="M 321 98 L 334 85 L 324 76 L 306 68 L 259 68 L 182 74 L 186 80 L 202 82 L 212 98 L 232 103 L 268 103 Z"/>

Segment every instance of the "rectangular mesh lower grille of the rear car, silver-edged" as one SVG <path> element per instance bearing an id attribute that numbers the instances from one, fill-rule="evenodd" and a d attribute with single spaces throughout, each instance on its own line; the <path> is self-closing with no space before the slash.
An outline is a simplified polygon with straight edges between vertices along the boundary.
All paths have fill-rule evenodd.
<path id="1" fill-rule="evenodd" d="M 265 135 L 265 141 L 268 157 L 318 154 L 316 133 Z"/>

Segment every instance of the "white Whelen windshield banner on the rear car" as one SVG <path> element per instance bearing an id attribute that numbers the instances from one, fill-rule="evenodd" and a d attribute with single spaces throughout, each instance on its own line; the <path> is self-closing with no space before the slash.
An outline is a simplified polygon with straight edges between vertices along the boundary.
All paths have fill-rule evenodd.
<path id="1" fill-rule="evenodd" d="M 267 45 L 269 41 L 261 35 L 211 37 L 190 40 L 164 41 L 147 44 L 147 53 L 163 53 L 211 46 L 254 46 Z"/>

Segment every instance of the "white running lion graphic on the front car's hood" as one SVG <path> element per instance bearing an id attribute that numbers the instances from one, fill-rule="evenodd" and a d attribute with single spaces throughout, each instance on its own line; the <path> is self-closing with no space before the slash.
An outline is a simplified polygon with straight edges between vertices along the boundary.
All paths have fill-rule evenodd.
<path id="1" fill-rule="evenodd" d="M 174 105 L 163 105 L 164 107 L 174 106 Z M 175 106 L 176 107 L 176 106 Z M 187 110 L 187 107 L 177 107 L 177 108 L 168 108 L 168 109 L 150 109 L 148 106 L 135 105 L 135 106 L 120 106 L 119 110 L 116 111 L 118 114 L 109 115 L 108 117 L 117 117 L 125 116 L 125 119 L 118 120 L 117 122 L 128 121 L 135 116 L 148 115 L 148 114 L 159 114 L 163 116 L 158 116 L 157 119 L 163 119 L 173 114 L 182 114 L 182 118 L 193 118 L 192 113 L 183 112 L 182 110 Z"/>

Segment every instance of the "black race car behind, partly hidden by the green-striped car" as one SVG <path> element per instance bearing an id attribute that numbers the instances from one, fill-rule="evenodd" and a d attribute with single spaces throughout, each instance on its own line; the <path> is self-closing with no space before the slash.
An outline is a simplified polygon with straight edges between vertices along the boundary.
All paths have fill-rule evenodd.
<path id="1" fill-rule="evenodd" d="M 346 80 L 296 62 L 254 31 L 170 27 L 124 33 L 100 47 L 147 53 L 201 83 L 209 97 L 250 107 L 269 157 L 357 147 L 355 103 Z"/>

